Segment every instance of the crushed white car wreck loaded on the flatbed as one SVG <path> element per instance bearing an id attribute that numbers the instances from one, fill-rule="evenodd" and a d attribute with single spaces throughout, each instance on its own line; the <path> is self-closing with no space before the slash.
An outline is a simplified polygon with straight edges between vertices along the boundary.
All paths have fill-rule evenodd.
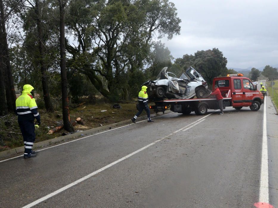
<path id="1" fill-rule="evenodd" d="M 164 67 L 155 81 L 149 80 L 143 85 L 147 86 L 147 93 L 150 100 L 156 98 L 186 99 L 197 96 L 206 97 L 210 90 L 204 78 L 193 67 L 189 67 L 180 78 L 175 74 L 167 72 Z"/>

